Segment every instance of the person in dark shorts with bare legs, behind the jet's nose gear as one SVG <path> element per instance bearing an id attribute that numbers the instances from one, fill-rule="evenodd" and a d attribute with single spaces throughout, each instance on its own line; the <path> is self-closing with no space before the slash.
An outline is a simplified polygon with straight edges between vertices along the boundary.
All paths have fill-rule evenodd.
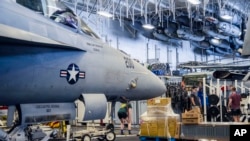
<path id="1" fill-rule="evenodd" d="M 120 109 L 118 110 L 118 118 L 121 121 L 121 134 L 124 135 L 124 124 L 128 124 L 128 133 L 131 134 L 131 123 L 132 123 L 132 105 L 129 101 L 123 97 L 121 101 Z"/>

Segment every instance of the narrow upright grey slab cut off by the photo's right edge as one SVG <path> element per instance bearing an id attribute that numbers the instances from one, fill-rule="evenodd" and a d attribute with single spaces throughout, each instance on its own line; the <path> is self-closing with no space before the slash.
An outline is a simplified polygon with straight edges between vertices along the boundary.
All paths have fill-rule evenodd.
<path id="1" fill-rule="evenodd" d="M 244 37 L 244 44 L 243 44 L 243 50 L 241 55 L 250 55 L 250 21 L 247 22 L 247 31 Z"/>

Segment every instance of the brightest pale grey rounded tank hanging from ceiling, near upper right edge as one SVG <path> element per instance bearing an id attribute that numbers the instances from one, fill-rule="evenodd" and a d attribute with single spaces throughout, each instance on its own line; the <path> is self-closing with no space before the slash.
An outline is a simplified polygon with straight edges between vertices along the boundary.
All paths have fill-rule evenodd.
<path id="1" fill-rule="evenodd" d="M 227 22 L 219 22 L 219 24 L 217 25 L 217 29 L 226 35 L 230 35 L 234 37 L 240 37 L 241 35 L 240 28 Z"/>

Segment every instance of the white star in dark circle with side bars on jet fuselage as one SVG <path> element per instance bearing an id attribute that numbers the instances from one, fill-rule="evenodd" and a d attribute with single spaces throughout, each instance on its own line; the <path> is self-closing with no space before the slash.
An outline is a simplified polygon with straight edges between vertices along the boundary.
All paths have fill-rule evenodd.
<path id="1" fill-rule="evenodd" d="M 85 72 L 80 71 L 79 67 L 72 63 L 68 66 L 67 70 L 60 71 L 60 77 L 66 77 L 69 84 L 75 84 L 79 78 L 85 78 Z"/>

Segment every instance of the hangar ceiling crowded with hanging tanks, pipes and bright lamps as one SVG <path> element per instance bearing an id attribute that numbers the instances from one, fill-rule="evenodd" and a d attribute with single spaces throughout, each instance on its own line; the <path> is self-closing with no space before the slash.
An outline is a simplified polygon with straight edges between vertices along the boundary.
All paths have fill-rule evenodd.
<path id="1" fill-rule="evenodd" d="M 189 40 L 195 52 L 242 57 L 250 0 L 64 1 L 90 14 L 105 11 L 149 39 L 176 47 Z M 143 28 L 146 24 L 154 28 Z"/>

